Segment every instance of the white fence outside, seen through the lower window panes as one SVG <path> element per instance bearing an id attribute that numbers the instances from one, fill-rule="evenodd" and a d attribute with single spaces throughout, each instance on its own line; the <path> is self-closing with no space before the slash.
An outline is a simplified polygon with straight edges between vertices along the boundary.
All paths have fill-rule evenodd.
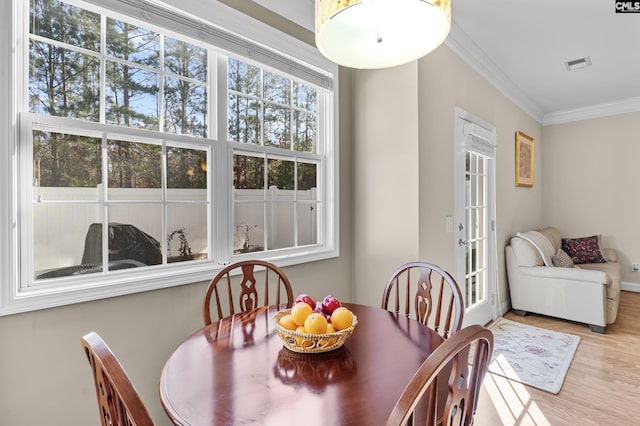
<path id="1" fill-rule="evenodd" d="M 37 188 L 34 204 L 34 269 L 42 271 L 82 262 L 85 237 L 92 223 L 102 223 L 104 210 L 95 201 L 102 197 L 98 188 Z M 234 220 L 236 238 L 234 250 L 243 248 L 245 239 L 253 249 L 291 247 L 297 235 L 297 245 L 317 243 L 318 203 L 316 190 L 297 191 L 272 188 L 265 203 L 261 190 L 235 190 Z M 173 231 L 184 228 L 192 253 L 208 253 L 209 234 L 207 192 L 204 189 L 167 190 L 170 201 L 202 201 L 202 204 L 168 204 L 166 233 L 162 224 L 160 189 L 109 189 L 109 199 L 124 204 L 109 208 L 109 222 L 131 224 L 149 234 L 161 244 Z M 47 200 L 77 201 L 48 203 Z M 144 201 L 142 206 L 127 204 L 126 200 Z M 93 201 L 93 202 L 92 202 Z M 157 201 L 157 203 L 154 203 Z M 294 202 L 295 201 L 295 202 Z M 135 206 L 135 208 L 133 208 Z M 246 232 L 245 232 L 246 231 Z M 214 236 L 215 238 L 215 236 Z M 265 241 L 267 244 L 265 244 Z M 174 237 L 169 256 L 177 255 L 180 243 Z"/>

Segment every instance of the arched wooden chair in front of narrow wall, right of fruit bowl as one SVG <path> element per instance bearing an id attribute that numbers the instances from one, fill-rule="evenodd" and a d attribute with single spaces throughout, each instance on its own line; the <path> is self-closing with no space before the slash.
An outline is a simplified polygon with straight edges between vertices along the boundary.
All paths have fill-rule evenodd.
<path id="1" fill-rule="evenodd" d="M 464 316 L 456 280 L 427 262 L 409 262 L 396 269 L 384 288 L 381 307 L 418 320 L 445 339 L 460 330 Z"/>

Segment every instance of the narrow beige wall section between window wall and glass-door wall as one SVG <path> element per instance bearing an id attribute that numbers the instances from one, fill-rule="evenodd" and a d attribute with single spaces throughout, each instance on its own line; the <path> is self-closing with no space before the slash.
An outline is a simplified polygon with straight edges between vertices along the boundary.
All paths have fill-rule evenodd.
<path id="1" fill-rule="evenodd" d="M 419 253 L 418 64 L 353 72 L 355 300 L 380 306 Z"/>

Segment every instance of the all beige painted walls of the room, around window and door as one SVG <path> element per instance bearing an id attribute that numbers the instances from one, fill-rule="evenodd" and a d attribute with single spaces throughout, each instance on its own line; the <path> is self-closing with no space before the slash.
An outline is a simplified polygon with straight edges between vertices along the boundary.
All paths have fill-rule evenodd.
<path id="1" fill-rule="evenodd" d="M 187 3 L 196 7 L 195 0 Z M 251 9 L 252 4 L 238 7 Z M 299 27 L 267 17 L 300 33 Z M 308 32 L 302 37 L 313 40 Z M 590 223 L 603 224 L 605 242 L 640 260 L 634 258 L 640 248 L 632 242 L 638 241 L 633 191 L 640 148 L 634 147 L 637 137 L 630 135 L 640 134 L 637 114 L 542 130 L 446 46 L 417 64 L 391 70 L 342 69 L 340 90 L 341 255 L 286 268 L 295 292 L 334 293 L 377 306 L 397 264 L 419 257 L 453 268 L 453 237 L 445 232 L 444 218 L 453 211 L 456 106 L 497 127 L 501 288 L 506 290 L 502 250 L 508 238 L 546 224 L 576 234 L 590 230 Z M 536 139 L 534 188 L 514 185 L 516 130 Z M 585 141 L 588 153 L 582 147 Z M 582 161 L 567 161 L 575 150 L 584 153 Z M 602 179 L 587 179 L 585 163 L 587 169 L 602 168 L 596 173 Z M 583 175 L 595 185 L 598 201 L 590 201 L 593 191 L 570 178 L 570 188 L 580 194 L 573 202 L 581 207 L 571 210 L 570 201 L 563 199 L 567 192 L 560 188 L 571 175 Z M 175 347 L 201 326 L 204 288 L 204 283 L 196 283 L 0 317 L 0 423 L 99 424 L 89 366 L 80 348 L 80 336 L 95 330 L 118 354 L 156 422 L 168 425 L 158 397 L 160 371 Z M 503 291 L 501 299 L 507 297 Z"/>

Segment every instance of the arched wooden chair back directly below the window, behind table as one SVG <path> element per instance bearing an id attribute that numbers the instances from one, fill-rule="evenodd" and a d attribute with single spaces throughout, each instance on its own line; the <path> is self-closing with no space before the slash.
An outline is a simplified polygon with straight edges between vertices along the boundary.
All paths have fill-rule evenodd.
<path id="1" fill-rule="evenodd" d="M 237 284 L 234 285 L 234 282 Z M 236 293 L 237 299 L 234 297 Z M 226 311 L 223 310 L 221 303 L 225 294 L 227 298 Z M 204 325 L 209 325 L 212 322 L 212 297 L 215 298 L 219 320 L 235 314 L 236 308 L 238 308 L 238 312 L 246 312 L 260 306 L 285 302 L 292 306 L 294 300 L 287 275 L 276 265 L 264 260 L 245 260 L 233 263 L 216 274 L 209 283 L 202 301 Z"/>

